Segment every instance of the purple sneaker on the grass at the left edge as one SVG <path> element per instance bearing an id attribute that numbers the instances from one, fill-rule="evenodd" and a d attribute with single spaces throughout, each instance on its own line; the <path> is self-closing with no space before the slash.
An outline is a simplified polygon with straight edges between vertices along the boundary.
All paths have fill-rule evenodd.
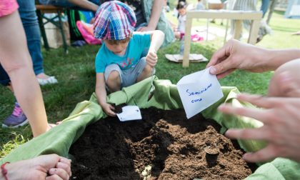
<path id="1" fill-rule="evenodd" d="M 23 110 L 19 106 L 18 103 L 14 105 L 14 111 L 11 114 L 11 116 L 8 116 L 3 124 L 3 128 L 17 128 L 19 126 L 24 126 L 28 123 L 28 119 L 26 118 L 25 114 L 23 113 Z"/>

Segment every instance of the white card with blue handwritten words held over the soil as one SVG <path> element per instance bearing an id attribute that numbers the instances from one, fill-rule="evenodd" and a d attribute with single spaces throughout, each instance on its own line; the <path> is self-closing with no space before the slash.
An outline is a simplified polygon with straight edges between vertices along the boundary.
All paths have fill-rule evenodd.
<path id="1" fill-rule="evenodd" d="M 211 75 L 209 69 L 182 77 L 177 83 L 177 89 L 187 119 L 203 111 L 224 96 L 216 75 Z"/>

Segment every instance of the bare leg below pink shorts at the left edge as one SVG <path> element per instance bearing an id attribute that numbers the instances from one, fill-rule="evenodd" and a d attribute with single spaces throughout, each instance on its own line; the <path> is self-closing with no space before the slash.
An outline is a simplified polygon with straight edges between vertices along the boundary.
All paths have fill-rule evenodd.
<path id="1" fill-rule="evenodd" d="M 46 132 L 48 124 L 19 13 L 15 11 L 1 17 L 0 24 L 0 62 L 9 74 L 16 99 L 29 119 L 36 137 Z"/>

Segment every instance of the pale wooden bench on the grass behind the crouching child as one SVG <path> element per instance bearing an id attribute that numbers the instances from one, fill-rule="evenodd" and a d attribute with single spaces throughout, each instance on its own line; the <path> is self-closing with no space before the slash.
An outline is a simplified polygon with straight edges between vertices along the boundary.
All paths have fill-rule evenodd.
<path id="1" fill-rule="evenodd" d="M 184 60 L 183 67 L 189 66 L 189 53 L 191 50 L 191 22 L 193 19 L 234 19 L 236 28 L 234 30 L 234 39 L 238 39 L 241 34 L 241 21 L 251 20 L 251 29 L 249 33 L 249 44 L 255 44 L 259 33 L 260 21 L 262 18 L 261 11 L 229 11 L 229 10 L 200 10 L 186 12 L 186 30 L 184 37 Z"/>

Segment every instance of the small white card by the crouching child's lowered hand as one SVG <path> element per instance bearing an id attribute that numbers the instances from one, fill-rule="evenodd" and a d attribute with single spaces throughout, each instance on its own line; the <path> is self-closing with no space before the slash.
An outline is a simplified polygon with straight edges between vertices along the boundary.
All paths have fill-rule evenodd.
<path id="1" fill-rule="evenodd" d="M 138 106 L 124 106 L 122 113 L 116 114 L 120 121 L 141 120 L 141 111 Z"/>

